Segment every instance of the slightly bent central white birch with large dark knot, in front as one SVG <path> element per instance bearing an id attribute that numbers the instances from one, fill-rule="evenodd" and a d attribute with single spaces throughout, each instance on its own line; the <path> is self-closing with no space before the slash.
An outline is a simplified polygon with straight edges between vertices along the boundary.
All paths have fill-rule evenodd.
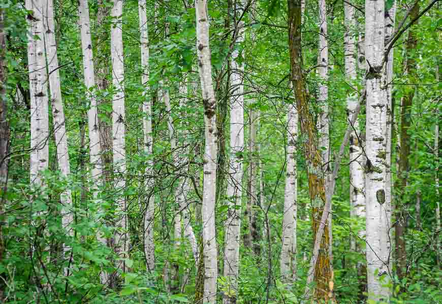
<path id="1" fill-rule="evenodd" d="M 203 246 L 204 246 L 204 303 L 216 302 L 218 276 L 215 240 L 215 190 L 216 190 L 216 100 L 213 91 L 212 66 L 209 47 L 209 20 L 207 0 L 195 0 L 197 20 L 197 54 L 204 105 L 204 183 L 203 183 Z"/>

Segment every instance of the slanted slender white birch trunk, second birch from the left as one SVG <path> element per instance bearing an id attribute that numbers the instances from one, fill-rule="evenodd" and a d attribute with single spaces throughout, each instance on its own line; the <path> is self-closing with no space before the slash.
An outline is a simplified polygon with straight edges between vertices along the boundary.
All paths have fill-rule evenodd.
<path id="1" fill-rule="evenodd" d="M 71 174 L 71 168 L 69 165 L 65 111 L 63 109 L 63 100 L 61 99 L 60 73 L 58 69 L 57 44 L 55 41 L 54 4 L 52 0 L 44 0 L 43 7 L 45 8 L 43 10 L 43 24 L 45 29 L 44 37 L 48 61 L 49 89 L 51 94 L 50 98 L 52 106 L 52 120 L 54 124 L 55 146 L 57 147 L 58 168 L 61 171 L 61 176 L 66 178 Z M 68 230 L 69 235 L 72 236 L 74 231 L 72 228 L 69 228 L 69 225 L 74 220 L 74 211 L 72 209 L 71 189 L 69 189 L 69 187 L 66 189 L 66 191 L 61 193 L 60 201 L 62 205 L 62 225 Z M 70 247 L 66 245 L 63 246 L 65 258 L 69 257 L 70 250 Z M 65 272 L 67 272 L 67 268 L 65 269 Z"/>

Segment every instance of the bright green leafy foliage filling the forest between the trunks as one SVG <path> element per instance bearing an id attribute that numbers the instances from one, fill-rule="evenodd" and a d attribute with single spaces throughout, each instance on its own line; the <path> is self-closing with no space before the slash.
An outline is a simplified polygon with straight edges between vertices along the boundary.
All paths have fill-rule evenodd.
<path id="1" fill-rule="evenodd" d="M 112 2 L 90 2 L 91 32 L 93 52 L 97 67 L 107 71 L 105 80 L 110 82 L 110 20 L 105 18 L 103 24 L 97 21 L 99 9 L 111 8 Z M 359 7 L 362 1 L 352 2 Z M 387 9 L 393 2 L 386 1 Z M 399 5 L 400 4 L 400 5 Z M 402 7 L 398 3 L 398 7 Z M 410 4 L 409 2 L 407 3 Z M 141 59 L 139 46 L 139 21 L 137 2 L 125 2 L 123 10 L 123 45 L 125 63 L 125 103 L 126 103 L 126 149 L 128 170 L 122 176 L 113 174 L 110 168 L 109 180 L 99 188 L 99 197 L 94 199 L 89 178 L 89 143 L 86 113 L 90 105 L 85 98 L 85 87 L 82 79 L 82 52 L 77 25 L 77 3 L 57 2 L 55 17 L 57 26 L 57 52 L 60 65 L 61 91 L 66 112 L 67 137 L 71 175 L 63 178 L 57 169 L 56 146 L 49 139 L 50 157 L 49 170 L 43 173 L 44 187 L 35 189 L 29 186 L 29 142 L 30 113 L 27 96 L 29 79 L 27 66 L 27 12 L 23 3 L 15 0 L 2 3 L 5 11 L 5 27 L 7 33 L 7 104 L 9 108 L 8 123 L 10 128 L 9 184 L 8 191 L 2 192 L 2 239 L 5 254 L 0 260 L 0 288 L 11 303 L 186 303 L 192 302 L 195 296 L 196 269 L 195 261 L 188 241 L 184 238 L 174 240 L 173 218 L 179 207 L 175 199 L 179 188 L 179 179 L 187 175 L 202 181 L 202 165 L 204 151 L 204 122 L 202 98 L 197 85 L 198 62 L 196 59 L 195 9 L 189 2 L 171 1 L 157 8 L 154 2 L 148 1 L 150 75 L 148 84 L 141 84 Z M 328 3 L 329 7 L 329 99 L 330 107 L 330 141 L 332 151 L 338 151 L 347 123 L 345 98 L 353 88 L 363 87 L 364 71 L 358 71 L 358 81 L 352 87 L 345 81 L 343 70 L 343 4 Z M 303 24 L 303 64 L 305 70 L 317 64 L 318 44 L 318 4 L 307 2 Z M 244 54 L 236 60 L 245 66 L 244 90 L 245 116 L 247 122 L 251 109 L 260 111 L 260 128 L 258 142 L 263 188 L 259 186 L 259 200 L 263 197 L 264 206 L 255 206 L 254 213 L 258 219 L 261 251 L 256 255 L 251 248 L 241 243 L 240 271 L 237 278 L 237 290 L 229 289 L 229 282 L 223 277 L 226 265 L 223 262 L 224 227 L 228 220 L 226 202 L 231 199 L 221 194 L 216 206 L 216 238 L 219 248 L 218 301 L 222 294 L 230 292 L 238 297 L 237 303 L 299 303 L 303 300 L 306 284 L 309 257 L 312 248 L 312 229 L 310 217 L 310 201 L 308 198 L 308 180 L 306 164 L 303 157 L 303 141 L 305 134 L 300 134 L 297 142 L 298 164 L 298 252 L 294 257 L 298 261 L 297 280 L 291 286 L 282 284 L 279 274 L 279 254 L 281 249 L 281 231 L 283 216 L 284 179 L 287 143 L 287 105 L 294 104 L 293 91 L 288 85 L 287 75 L 290 72 L 288 54 L 288 35 L 286 3 L 281 1 L 263 0 L 256 4 L 255 16 L 245 14 L 245 41 L 232 45 L 231 28 L 226 28 L 228 18 L 227 2 L 210 1 L 210 47 L 213 65 L 213 79 L 217 96 L 229 100 L 234 90 L 227 85 L 229 73 L 228 56 L 233 50 L 243 50 Z M 410 91 L 415 91 L 411 128 L 408 132 L 412 138 L 410 160 L 412 170 L 408 174 L 406 189 L 394 189 L 404 192 L 404 205 L 408 214 L 406 232 L 407 252 L 409 256 L 408 275 L 405 280 L 393 278 L 391 289 L 393 295 L 390 303 L 437 303 L 442 301 L 442 272 L 435 266 L 436 238 L 434 232 L 436 201 L 435 172 L 440 167 L 440 159 L 435 156 L 433 147 L 434 128 L 440 121 L 440 91 L 442 86 L 435 78 L 435 64 L 440 60 L 440 23 L 436 18 L 439 9 L 435 9 L 420 19 L 416 26 L 419 48 L 412 54 L 420 69 L 416 76 L 409 76 L 403 71 L 404 43 L 406 36 L 401 37 L 395 48 L 394 87 L 395 99 L 393 147 L 396 146 L 399 128 L 400 99 Z M 401 20 L 403 10 L 398 10 L 396 20 Z M 238 18 L 231 14 L 231 24 Z M 363 22 L 363 17 L 358 13 Z M 170 32 L 165 37 L 164 27 L 169 23 Z M 261 22 L 261 23 L 259 23 Z M 271 26 L 266 24 L 273 24 Z M 253 33 L 253 35 L 251 35 Z M 254 36 L 252 38 L 252 36 Z M 437 57 L 438 56 L 438 57 Z M 223 70 L 224 69 L 224 70 Z M 306 75 L 308 89 L 313 103 L 311 111 L 317 117 L 319 105 L 315 103 L 318 95 L 318 78 L 314 69 Z M 188 94 L 179 94 L 179 83 L 188 81 Z M 160 84 L 160 81 L 163 84 Z M 419 85 L 416 85 L 419 84 Z M 145 87 L 149 87 L 153 102 L 153 154 L 144 151 L 142 133 L 142 95 Z M 162 102 L 162 91 L 168 89 L 171 94 L 172 113 L 168 113 Z M 114 88 L 95 90 L 100 100 L 98 110 L 101 130 L 112 124 L 112 94 Z M 18 97 L 21 92 L 21 97 Z M 355 95 L 356 96 L 356 95 Z M 180 98 L 186 97 L 186 103 L 180 105 Z M 254 103 L 251 103 L 254 100 Z M 227 103 L 228 104 L 228 103 Z M 228 105 L 226 107 L 229 107 Z M 228 110 L 226 108 L 224 110 Z M 220 111 L 220 109 L 218 109 Z M 363 109 L 365 111 L 365 109 Z M 177 140 L 178 154 L 190 160 L 185 170 L 179 170 L 174 163 L 170 147 L 170 135 L 167 119 L 172 116 L 176 132 L 185 136 Z M 361 127 L 364 128 L 365 113 L 360 116 Z M 227 117 L 227 121 L 229 121 Z M 50 122 L 51 123 L 51 122 Z M 225 133 L 229 126 L 226 124 Z M 109 127 L 107 127 L 109 129 Z M 245 126 L 245 138 L 248 138 L 248 127 Z M 229 155 L 229 139 L 226 139 L 226 155 Z M 440 150 L 439 145 L 439 150 Z M 196 149 L 199 147 L 198 149 Z M 394 149 L 393 149 L 394 150 Z M 104 151 L 104 154 L 111 151 Z M 348 150 L 345 152 L 348 155 Z M 333 153 L 331 153 L 333 155 Z M 396 157 L 393 153 L 392 159 Z M 440 152 L 439 152 L 440 155 Z M 244 160 L 244 189 L 248 180 L 251 155 L 248 150 L 241 152 Z M 154 185 L 146 187 L 149 176 L 146 176 L 148 161 L 154 160 Z M 339 303 L 361 303 L 365 300 L 365 273 L 361 273 L 361 265 L 365 265 L 363 251 L 350 250 L 350 242 L 354 240 L 358 248 L 364 249 L 364 237 L 358 232 L 365 227 L 364 219 L 350 217 L 350 184 L 349 159 L 342 160 L 342 169 L 337 178 L 333 196 L 333 267 L 334 296 Z M 184 165 L 183 165 L 184 166 Z M 395 174 L 397 165 L 393 161 L 391 171 Z M 184 172 L 184 173 L 183 173 Z M 127 187 L 118 192 L 112 179 L 124 177 Z M 394 175 L 394 178 L 397 177 Z M 197 239 L 200 239 L 202 223 L 197 218 L 200 208 L 202 187 L 190 180 L 191 193 L 188 210 Z M 71 190 L 74 205 L 69 212 L 74 215 L 74 222 L 69 225 L 73 234 L 62 226 L 60 214 L 60 194 Z M 243 189 L 241 204 L 238 211 L 244 210 L 248 199 Z M 415 199 L 416 193 L 422 193 L 420 226 L 417 223 Z M 118 214 L 116 201 L 124 197 L 128 204 L 127 230 L 131 235 L 130 258 L 125 259 L 130 271 L 120 274 L 117 286 L 110 288 L 100 283 L 100 273 L 119 272 L 115 268 L 118 257 L 113 250 L 97 241 L 99 232 L 109 240 L 115 235 L 114 223 Z M 143 250 L 143 215 L 148 197 L 154 199 L 154 240 L 155 270 L 146 271 Z M 261 200 L 260 200 L 261 201 Z M 241 218 L 244 219 L 241 214 Z M 265 225 L 269 223 L 269 231 Z M 241 238 L 247 233 L 242 227 Z M 267 241 L 267 233 L 269 240 Z M 241 239 L 242 240 L 242 239 Z M 177 246 L 179 243 L 179 246 Z M 201 243 L 201 242 L 200 242 Z M 201 244 L 200 244 L 201 245 Z M 440 241 L 439 241 L 440 245 Z M 69 247 L 68 256 L 64 256 L 63 247 Z M 203 247 L 203 245 L 201 245 Z M 202 255 L 201 255 L 202 256 Z M 392 256 L 394 261 L 394 256 Z M 170 265 L 177 265 L 180 282 L 176 282 Z M 396 265 L 392 267 L 394 274 Z M 69 276 L 65 275 L 69 269 Z M 171 278 L 165 282 L 165 273 Z M 187 280 L 183 282 L 183 278 Z M 168 292 L 168 285 L 180 285 Z M 183 285 L 181 289 L 181 285 Z M 364 293 L 365 292 L 365 293 Z"/>

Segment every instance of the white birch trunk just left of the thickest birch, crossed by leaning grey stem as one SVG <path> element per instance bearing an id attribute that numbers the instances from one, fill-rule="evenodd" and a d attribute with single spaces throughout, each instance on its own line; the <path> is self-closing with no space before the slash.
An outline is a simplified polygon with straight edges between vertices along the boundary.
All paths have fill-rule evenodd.
<path id="1" fill-rule="evenodd" d="M 351 85 L 356 84 L 356 19 L 355 8 L 348 3 L 344 3 L 345 14 L 345 79 Z M 365 60 L 365 59 L 364 59 Z M 358 106 L 357 92 L 351 90 L 347 94 L 347 119 L 350 120 L 355 113 L 355 109 Z M 350 134 L 350 215 L 352 218 L 364 219 L 365 218 L 365 177 L 363 165 L 365 163 L 365 156 L 363 154 L 363 142 L 361 140 L 361 131 L 359 126 L 359 120 L 357 119 L 354 124 L 354 130 Z M 358 231 L 359 237 L 365 238 L 365 229 Z M 351 239 L 351 250 L 359 250 L 356 248 L 356 239 Z"/>

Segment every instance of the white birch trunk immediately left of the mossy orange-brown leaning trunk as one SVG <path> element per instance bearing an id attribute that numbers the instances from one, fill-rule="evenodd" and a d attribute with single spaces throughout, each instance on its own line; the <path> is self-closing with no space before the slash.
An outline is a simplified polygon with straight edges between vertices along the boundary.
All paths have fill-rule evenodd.
<path id="1" fill-rule="evenodd" d="M 296 172 L 296 144 L 298 141 L 298 111 L 295 104 L 288 104 L 287 114 L 287 169 L 284 194 L 284 215 L 282 220 L 282 248 L 280 269 L 282 281 L 292 285 L 291 279 L 296 277 L 296 199 L 297 199 L 297 172 Z"/>

